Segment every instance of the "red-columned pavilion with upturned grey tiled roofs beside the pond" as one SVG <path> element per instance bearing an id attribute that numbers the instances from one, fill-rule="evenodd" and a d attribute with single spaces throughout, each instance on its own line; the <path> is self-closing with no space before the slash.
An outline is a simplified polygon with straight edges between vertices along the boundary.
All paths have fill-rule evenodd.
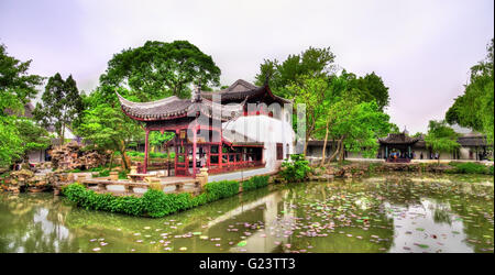
<path id="1" fill-rule="evenodd" d="M 256 87 L 242 79 L 217 92 L 197 88 L 191 99 L 173 96 L 152 102 L 132 102 L 119 94 L 118 98 L 129 118 L 144 122 L 145 157 L 138 172 L 145 174 L 148 170 L 150 132 L 174 132 L 175 138 L 167 143 L 175 150 L 174 174 L 193 177 L 200 167 L 207 167 L 209 174 L 265 167 L 265 142 L 252 139 L 245 132 L 224 128 L 242 117 L 280 116 L 266 106 L 290 102 L 274 96 L 267 84 Z M 254 103 L 256 109 L 248 108 L 248 103 Z M 279 147 L 277 154 L 283 155 L 284 146 L 282 150 Z"/>

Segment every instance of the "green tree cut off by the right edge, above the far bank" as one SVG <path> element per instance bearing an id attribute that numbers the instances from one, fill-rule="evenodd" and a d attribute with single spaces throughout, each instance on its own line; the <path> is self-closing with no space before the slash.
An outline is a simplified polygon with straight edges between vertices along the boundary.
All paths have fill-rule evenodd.
<path id="1" fill-rule="evenodd" d="M 455 98 L 446 113 L 448 123 L 458 123 L 486 134 L 494 143 L 494 40 L 486 46 L 486 57 L 471 67 L 464 94 Z"/>

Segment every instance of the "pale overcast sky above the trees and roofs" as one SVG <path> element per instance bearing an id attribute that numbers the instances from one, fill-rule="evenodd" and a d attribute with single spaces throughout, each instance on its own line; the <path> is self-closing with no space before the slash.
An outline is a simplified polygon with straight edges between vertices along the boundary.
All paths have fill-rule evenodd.
<path id="1" fill-rule="evenodd" d="M 0 43 L 91 91 L 108 61 L 147 40 L 187 40 L 211 55 L 221 84 L 253 81 L 264 58 L 327 47 L 358 75 L 389 87 L 400 130 L 426 132 L 461 95 L 494 35 L 493 0 L 0 0 Z"/>

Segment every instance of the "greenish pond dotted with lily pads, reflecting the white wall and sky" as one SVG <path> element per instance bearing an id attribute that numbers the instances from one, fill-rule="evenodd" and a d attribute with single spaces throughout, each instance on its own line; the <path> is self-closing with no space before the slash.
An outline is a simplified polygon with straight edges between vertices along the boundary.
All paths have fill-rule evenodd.
<path id="1" fill-rule="evenodd" d="M 493 177 L 387 174 L 270 186 L 162 219 L 0 194 L 0 252 L 488 252 Z"/>

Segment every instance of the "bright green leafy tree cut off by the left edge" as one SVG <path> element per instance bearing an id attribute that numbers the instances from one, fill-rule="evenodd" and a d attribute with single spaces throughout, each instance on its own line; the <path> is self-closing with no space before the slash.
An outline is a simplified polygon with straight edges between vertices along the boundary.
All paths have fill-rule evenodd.
<path id="1" fill-rule="evenodd" d="M 37 94 L 43 77 L 28 74 L 31 61 L 21 62 L 7 54 L 0 44 L 0 166 L 10 165 L 25 152 L 18 116 Z"/>

